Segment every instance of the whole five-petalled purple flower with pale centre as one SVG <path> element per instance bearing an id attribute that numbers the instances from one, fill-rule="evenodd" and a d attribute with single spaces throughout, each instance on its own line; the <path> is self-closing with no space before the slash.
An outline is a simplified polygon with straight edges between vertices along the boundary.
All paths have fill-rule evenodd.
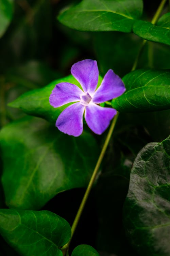
<path id="1" fill-rule="evenodd" d="M 103 108 L 98 104 L 122 95 L 125 91 L 122 80 L 112 69 L 109 69 L 96 90 L 99 70 L 97 61 L 91 59 L 75 63 L 71 67 L 71 74 L 81 84 L 83 90 L 67 82 L 56 84 L 49 98 L 54 108 L 76 102 L 58 116 L 56 127 L 68 135 L 80 136 L 85 112 L 88 127 L 97 134 L 103 133 L 117 111 L 113 108 Z"/>

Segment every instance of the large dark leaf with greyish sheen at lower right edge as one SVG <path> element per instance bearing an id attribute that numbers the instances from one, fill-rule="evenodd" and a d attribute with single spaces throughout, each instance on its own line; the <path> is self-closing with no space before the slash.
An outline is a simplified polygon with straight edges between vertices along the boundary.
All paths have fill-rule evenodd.
<path id="1" fill-rule="evenodd" d="M 140 255 L 170 255 L 170 137 L 137 155 L 124 204 L 124 225 Z"/>

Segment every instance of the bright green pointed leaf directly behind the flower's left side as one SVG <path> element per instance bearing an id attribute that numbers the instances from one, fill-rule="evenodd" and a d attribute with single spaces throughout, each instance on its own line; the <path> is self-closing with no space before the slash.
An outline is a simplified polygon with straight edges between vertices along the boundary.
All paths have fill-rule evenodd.
<path id="1" fill-rule="evenodd" d="M 100 85 L 101 81 L 102 78 L 99 76 L 98 86 Z M 68 103 L 60 108 L 53 108 L 53 106 L 51 106 L 49 103 L 51 91 L 54 89 L 56 84 L 61 82 L 75 84 L 81 88 L 78 81 L 72 75 L 69 75 L 51 82 L 44 88 L 29 91 L 8 105 L 12 106 L 13 108 L 19 108 L 29 115 L 42 117 L 49 122 L 55 123 L 60 113 L 70 105 L 70 103 Z"/>

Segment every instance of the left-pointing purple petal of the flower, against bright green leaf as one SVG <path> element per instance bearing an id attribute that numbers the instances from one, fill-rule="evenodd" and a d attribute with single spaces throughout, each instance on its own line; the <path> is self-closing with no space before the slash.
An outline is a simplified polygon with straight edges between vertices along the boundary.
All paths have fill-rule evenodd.
<path id="1" fill-rule="evenodd" d="M 56 84 L 52 90 L 49 102 L 54 108 L 58 108 L 67 103 L 79 101 L 83 94 L 84 92 L 75 84 L 60 83 Z"/>

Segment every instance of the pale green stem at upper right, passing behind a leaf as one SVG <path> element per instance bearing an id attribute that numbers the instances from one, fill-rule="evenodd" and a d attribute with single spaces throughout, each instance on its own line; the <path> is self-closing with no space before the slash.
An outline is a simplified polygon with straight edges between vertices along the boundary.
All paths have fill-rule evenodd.
<path id="1" fill-rule="evenodd" d="M 155 15 L 153 16 L 153 18 L 152 18 L 152 20 L 151 20 L 151 23 L 152 23 L 153 25 L 156 24 L 156 22 L 157 22 L 157 20 L 158 20 L 158 18 L 159 18 L 159 16 L 160 16 L 160 14 L 161 14 L 161 12 L 162 12 L 162 10 L 163 10 L 163 8 L 164 8 L 164 5 L 165 5 L 166 1 L 167 1 L 167 0 L 162 0 L 161 3 L 159 4 L 158 9 L 157 9 Z M 136 59 L 135 59 L 135 61 L 134 61 L 134 64 L 133 64 L 133 67 L 132 67 L 132 70 L 131 70 L 131 71 L 134 71 L 134 70 L 136 69 L 137 63 L 138 63 L 138 60 L 139 60 L 139 57 L 140 57 L 140 55 L 141 55 L 141 53 L 142 53 L 142 51 L 143 51 L 143 47 L 145 46 L 146 42 L 147 42 L 147 40 L 145 40 L 145 39 L 142 41 L 142 44 L 141 44 L 141 46 L 140 46 L 138 55 L 136 56 Z"/>

